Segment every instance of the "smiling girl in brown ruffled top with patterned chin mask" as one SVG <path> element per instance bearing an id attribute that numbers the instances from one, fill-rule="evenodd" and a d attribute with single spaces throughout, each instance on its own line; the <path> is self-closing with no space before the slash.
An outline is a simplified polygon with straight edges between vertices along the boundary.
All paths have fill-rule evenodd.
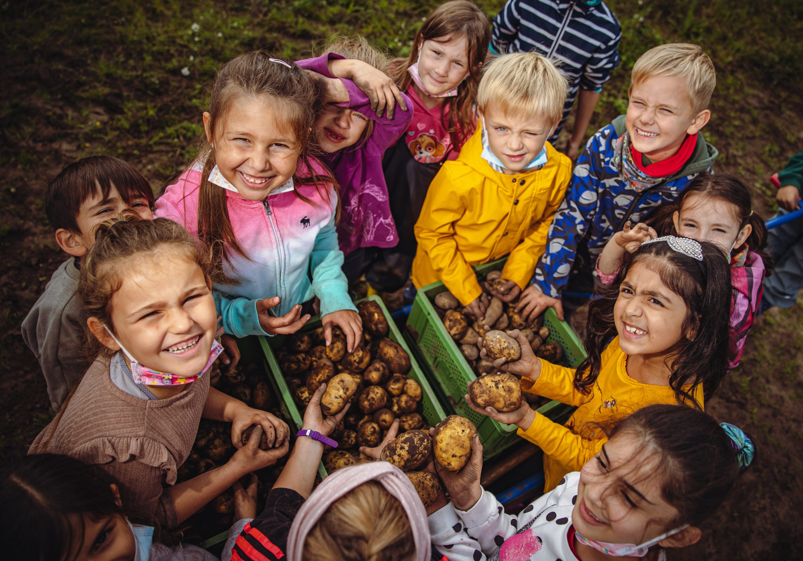
<path id="1" fill-rule="evenodd" d="M 206 252 L 171 220 L 100 224 L 79 280 L 97 359 L 29 450 L 100 466 L 132 513 L 167 528 L 287 453 L 284 422 L 210 387 L 222 347 L 208 270 Z M 231 422 L 238 450 L 174 485 L 201 417 Z M 271 450 L 242 445 L 251 425 Z"/>

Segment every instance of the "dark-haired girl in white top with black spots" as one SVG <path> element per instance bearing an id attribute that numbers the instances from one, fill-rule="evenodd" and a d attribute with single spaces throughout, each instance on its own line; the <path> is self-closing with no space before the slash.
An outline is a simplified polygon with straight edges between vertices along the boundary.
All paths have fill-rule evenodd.
<path id="1" fill-rule="evenodd" d="M 508 515 L 480 486 L 479 438 L 472 448 L 457 473 L 436 464 L 451 502 L 430 515 L 430 532 L 450 561 L 662 561 L 666 549 L 699 541 L 755 454 L 742 430 L 702 411 L 646 406 L 555 490 Z"/>

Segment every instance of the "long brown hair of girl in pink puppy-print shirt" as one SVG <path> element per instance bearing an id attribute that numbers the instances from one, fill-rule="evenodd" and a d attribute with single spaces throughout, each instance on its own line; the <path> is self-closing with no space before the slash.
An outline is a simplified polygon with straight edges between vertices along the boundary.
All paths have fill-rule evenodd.
<path id="1" fill-rule="evenodd" d="M 474 132 L 476 125 L 474 104 L 482 74 L 481 65 L 487 54 L 491 40 L 491 22 L 474 2 L 450 0 L 432 10 L 421 29 L 415 34 L 413 48 L 406 63 L 393 68 L 393 80 L 402 91 L 410 86 L 410 73 L 407 71 L 418 60 L 418 50 L 425 41 L 438 41 L 446 37 L 464 36 L 468 42 L 468 75 L 458 87 L 458 94 L 441 103 L 441 122 L 449 129 L 455 148 L 463 146 Z M 448 103 L 449 120 L 443 122 L 443 111 Z"/>

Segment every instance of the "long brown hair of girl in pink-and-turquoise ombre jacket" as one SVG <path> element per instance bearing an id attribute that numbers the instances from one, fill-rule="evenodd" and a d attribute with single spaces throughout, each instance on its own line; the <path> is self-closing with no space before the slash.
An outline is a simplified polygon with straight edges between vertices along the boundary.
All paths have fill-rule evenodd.
<path id="1" fill-rule="evenodd" d="M 263 50 L 240 54 L 224 64 L 214 80 L 209 100 L 209 137 L 217 138 L 217 131 L 234 102 L 238 99 L 264 99 L 281 115 L 283 124 L 292 131 L 301 147 L 300 163 L 304 164 L 307 176 L 300 176 L 298 167 L 293 174 L 296 196 L 312 204 L 298 191 L 299 185 L 313 184 L 319 189 L 324 183 L 335 188 L 336 181 L 328 168 L 319 174 L 312 168 L 312 153 L 316 143 L 311 130 L 323 109 L 322 95 L 316 80 L 295 63 L 277 62 Z M 226 190 L 210 184 L 209 174 L 216 165 L 214 147 L 206 135 L 202 136 L 202 149 L 196 163 L 202 163 L 201 185 L 198 193 L 198 238 L 211 250 L 210 276 L 216 283 L 236 284 L 236 280 L 224 272 L 223 262 L 231 264 L 237 254 L 248 258 L 240 247 L 231 227 L 226 206 Z M 320 163 L 320 162 L 319 162 Z M 325 190 L 324 190 L 325 192 Z"/>

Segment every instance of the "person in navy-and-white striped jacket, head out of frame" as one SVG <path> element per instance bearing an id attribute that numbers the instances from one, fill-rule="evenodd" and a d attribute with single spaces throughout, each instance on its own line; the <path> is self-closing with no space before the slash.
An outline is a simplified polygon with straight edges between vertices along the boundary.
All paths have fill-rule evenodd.
<path id="1" fill-rule="evenodd" d="M 494 18 L 491 46 L 497 53 L 533 50 L 562 63 L 569 79 L 563 119 L 549 139 L 554 142 L 572 110 L 577 90 L 600 91 L 619 66 L 622 26 L 605 2 L 507 0 Z"/>

